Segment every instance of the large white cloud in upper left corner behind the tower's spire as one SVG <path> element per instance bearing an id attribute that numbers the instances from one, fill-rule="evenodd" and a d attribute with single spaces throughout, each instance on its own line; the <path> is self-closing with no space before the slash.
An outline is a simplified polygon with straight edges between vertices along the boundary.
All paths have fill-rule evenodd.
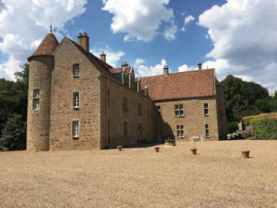
<path id="1" fill-rule="evenodd" d="M 0 64 L 0 76 L 15 79 L 13 73 L 21 70 L 19 64 L 27 62 L 28 56 L 37 49 L 49 31 L 50 17 L 58 40 L 67 21 L 85 11 L 87 0 L 1 0 L 0 50 L 8 60 Z"/>

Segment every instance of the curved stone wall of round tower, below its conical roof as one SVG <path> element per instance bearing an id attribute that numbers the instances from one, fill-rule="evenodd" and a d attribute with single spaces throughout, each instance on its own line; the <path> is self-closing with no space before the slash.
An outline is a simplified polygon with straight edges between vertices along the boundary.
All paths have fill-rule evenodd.
<path id="1" fill-rule="evenodd" d="M 30 58 L 27 151 L 49 149 L 52 55 Z M 39 110 L 33 110 L 33 90 L 39 89 Z"/>

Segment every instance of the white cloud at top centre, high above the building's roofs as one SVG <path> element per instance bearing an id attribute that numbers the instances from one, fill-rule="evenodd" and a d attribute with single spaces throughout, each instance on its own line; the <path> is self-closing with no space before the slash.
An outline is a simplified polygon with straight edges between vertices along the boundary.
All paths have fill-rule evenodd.
<path id="1" fill-rule="evenodd" d="M 102 0 L 104 7 L 114 15 L 111 29 L 114 33 L 127 33 L 125 41 L 143 40 L 150 42 L 157 35 L 162 22 L 167 24 L 162 34 L 168 40 L 175 39 L 177 26 L 173 11 L 166 8 L 170 0 Z"/>

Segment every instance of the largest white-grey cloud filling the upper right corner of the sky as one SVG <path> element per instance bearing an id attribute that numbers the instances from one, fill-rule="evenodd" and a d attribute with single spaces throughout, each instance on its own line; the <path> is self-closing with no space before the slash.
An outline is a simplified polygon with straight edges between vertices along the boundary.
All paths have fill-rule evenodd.
<path id="1" fill-rule="evenodd" d="M 231 73 L 269 92 L 277 89 L 272 76 L 277 62 L 276 10 L 276 0 L 229 0 L 199 16 L 199 25 L 208 28 L 214 45 L 206 57 L 226 63 L 222 76 Z"/>

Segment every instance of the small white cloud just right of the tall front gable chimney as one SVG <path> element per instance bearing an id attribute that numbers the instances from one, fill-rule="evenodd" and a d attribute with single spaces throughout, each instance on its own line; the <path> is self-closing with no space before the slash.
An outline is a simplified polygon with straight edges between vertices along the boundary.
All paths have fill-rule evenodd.
<path id="1" fill-rule="evenodd" d="M 90 52 L 96 55 L 98 58 L 100 58 L 100 54 L 104 52 L 106 54 L 106 62 L 114 68 L 116 68 L 118 61 L 120 61 L 123 55 L 125 55 L 123 51 L 112 51 L 109 49 L 109 46 L 100 49 L 93 48 Z"/>

